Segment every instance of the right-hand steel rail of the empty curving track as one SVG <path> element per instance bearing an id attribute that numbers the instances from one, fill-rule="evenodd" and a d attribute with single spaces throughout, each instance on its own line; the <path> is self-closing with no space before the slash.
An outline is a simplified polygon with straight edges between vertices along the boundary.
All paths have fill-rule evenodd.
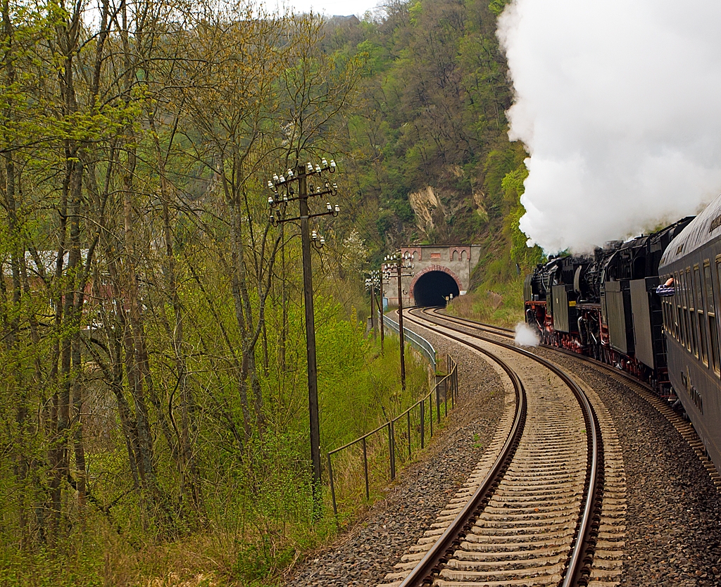
<path id="1" fill-rule="evenodd" d="M 438 322 L 430 319 L 430 316 L 428 315 L 428 310 L 428 308 L 420 310 L 421 312 L 423 312 L 423 314 L 425 314 L 424 318 L 432 324 L 443 326 L 442 324 L 438 324 Z M 418 311 L 418 309 L 415 309 L 415 311 Z M 417 322 L 417 320 L 414 320 L 412 318 L 415 317 L 412 312 L 409 312 L 409 314 L 409 319 L 411 320 L 411 322 L 422 325 L 420 324 L 420 322 Z M 435 311 L 432 317 L 436 317 L 441 320 L 446 319 L 445 315 L 441 317 L 439 314 L 435 313 Z M 454 322 L 462 322 L 462 320 L 463 319 L 451 317 L 446 321 L 453 324 Z M 428 326 L 425 327 L 428 328 Z M 443 335 L 448 336 L 446 333 L 443 333 Z M 528 350 L 518 348 L 508 343 L 502 343 L 497 340 L 490 340 L 480 335 L 472 336 L 479 338 L 479 340 L 484 340 L 487 343 L 498 345 L 508 350 L 513 350 L 513 352 L 519 353 L 522 356 L 526 356 L 528 358 L 531 358 L 533 361 L 541 363 L 541 365 L 548 368 L 549 371 L 552 371 L 554 374 L 559 376 L 559 378 L 571 389 L 582 408 L 583 419 L 585 421 L 588 436 L 589 456 L 589 464 L 584 485 L 584 506 L 580 511 L 580 516 L 575 531 L 575 543 L 573 544 L 572 550 L 570 552 L 567 570 L 562 583 L 560 583 L 560 587 L 585 585 L 588 583 L 588 575 L 590 575 L 590 565 L 593 562 L 593 554 L 596 550 L 596 536 L 598 534 L 598 526 L 601 520 L 600 506 L 603 493 L 603 440 L 601 438 L 601 427 L 598 424 L 596 412 L 593 410 L 593 406 L 590 405 L 588 397 L 585 397 L 583 390 L 578 387 L 578 384 L 576 384 L 575 381 L 573 381 L 570 376 L 565 373 L 565 371 L 555 366 L 550 361 L 547 361 L 547 359 L 539 357 Z M 458 339 L 456 338 L 456 340 Z"/>

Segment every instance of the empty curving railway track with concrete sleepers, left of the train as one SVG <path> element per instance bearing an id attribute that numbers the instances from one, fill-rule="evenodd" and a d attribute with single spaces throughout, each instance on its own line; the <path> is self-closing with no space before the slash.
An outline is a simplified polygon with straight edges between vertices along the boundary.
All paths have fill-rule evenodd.
<path id="1" fill-rule="evenodd" d="M 450 320 L 438 324 L 445 317 L 429 318 L 407 314 L 492 361 L 505 375 L 506 410 L 477 469 L 383 584 L 613 584 L 625 505 L 622 460 L 605 410 L 597 415 L 590 390 L 550 361 L 480 334 L 508 331 L 483 325 L 457 332 Z M 606 438 L 610 454 L 608 446 L 603 452 Z"/>

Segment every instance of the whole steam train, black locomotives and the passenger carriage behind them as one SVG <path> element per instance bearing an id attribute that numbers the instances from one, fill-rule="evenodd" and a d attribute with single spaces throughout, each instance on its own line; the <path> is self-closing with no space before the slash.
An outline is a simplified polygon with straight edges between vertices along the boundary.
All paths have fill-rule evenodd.
<path id="1" fill-rule="evenodd" d="M 542 343 L 678 398 L 721 470 L 721 196 L 653 234 L 550 257 L 523 298 Z"/>

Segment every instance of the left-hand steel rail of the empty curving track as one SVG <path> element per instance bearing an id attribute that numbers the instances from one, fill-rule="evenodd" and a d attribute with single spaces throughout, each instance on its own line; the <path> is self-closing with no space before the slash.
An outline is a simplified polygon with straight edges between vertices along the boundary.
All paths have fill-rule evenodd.
<path id="1" fill-rule="evenodd" d="M 413 320 L 413 322 L 416 322 Z M 448 336 L 448 335 L 446 335 Z M 526 389 L 523 387 L 521 379 L 518 377 L 513 368 L 503 359 L 495 356 L 492 352 L 478 345 L 468 343 L 467 341 L 456 338 L 456 340 L 470 348 L 478 350 L 492 361 L 495 361 L 503 371 L 510 377 L 513 383 L 513 389 L 516 392 L 516 415 L 513 419 L 513 426 L 510 429 L 508 438 L 501 449 L 500 454 L 493 463 L 490 472 L 485 480 L 479 485 L 472 495 L 466 506 L 451 522 L 446 531 L 433 544 L 430 550 L 425 554 L 423 559 L 411 570 L 409 575 L 402 581 L 400 587 L 419 587 L 424 583 L 432 581 L 433 575 L 438 573 L 440 565 L 448 561 L 454 550 L 459 546 L 461 537 L 467 534 L 472 528 L 476 518 L 483 511 L 486 504 L 500 483 L 501 477 L 505 474 L 506 469 L 510 465 L 513 455 L 516 454 L 516 447 L 521 440 L 523 428 L 526 423 Z"/>

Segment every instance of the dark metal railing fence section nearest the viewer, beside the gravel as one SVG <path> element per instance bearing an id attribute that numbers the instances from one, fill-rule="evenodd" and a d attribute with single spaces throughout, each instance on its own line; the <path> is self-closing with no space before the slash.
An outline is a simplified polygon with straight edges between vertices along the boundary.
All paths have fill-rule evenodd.
<path id="1" fill-rule="evenodd" d="M 365 485 L 366 500 L 371 497 L 371 472 L 378 472 L 376 477 L 381 475 L 383 469 L 388 471 L 389 479 L 396 477 L 397 461 L 410 461 L 412 451 L 425 448 L 426 428 L 430 438 L 433 438 L 433 412 L 435 411 L 436 424 L 441 423 L 441 412 L 448 415 L 448 400 L 451 401 L 451 410 L 458 399 L 458 366 L 450 355 L 447 356 L 448 374 L 438 377 L 433 389 L 428 394 L 415 402 L 411 407 L 392 420 L 381 424 L 375 430 L 356 438 L 343 446 L 333 449 L 327 453 L 328 477 L 330 480 L 330 493 L 333 501 L 333 513 L 338 515 L 336 500 L 336 480 L 333 474 L 332 456 L 345 454 L 346 463 L 351 469 L 349 477 L 355 477 L 356 483 L 349 485 L 356 488 L 360 477 L 356 474 L 353 449 L 360 451 L 360 459 L 363 461 L 363 485 Z M 434 408 L 435 402 L 435 410 Z M 387 468 L 384 462 L 387 459 Z"/>

